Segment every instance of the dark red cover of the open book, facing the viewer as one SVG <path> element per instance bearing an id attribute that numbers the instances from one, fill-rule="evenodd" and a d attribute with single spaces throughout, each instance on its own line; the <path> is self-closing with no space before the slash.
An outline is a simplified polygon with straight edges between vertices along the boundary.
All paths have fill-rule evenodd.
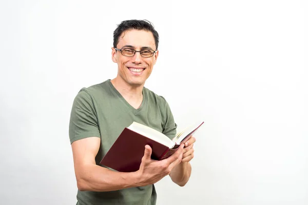
<path id="1" fill-rule="evenodd" d="M 169 148 L 137 132 L 124 128 L 100 164 L 119 172 L 134 172 L 140 168 L 145 145 L 152 148 L 152 159 L 161 159 Z"/>

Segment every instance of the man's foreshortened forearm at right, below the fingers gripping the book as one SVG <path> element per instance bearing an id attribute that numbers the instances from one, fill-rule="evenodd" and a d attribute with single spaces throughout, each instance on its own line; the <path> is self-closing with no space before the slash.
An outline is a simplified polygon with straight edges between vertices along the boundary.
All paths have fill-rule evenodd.
<path id="1" fill-rule="evenodd" d="M 186 185 L 191 174 L 191 165 L 189 162 L 181 162 L 170 172 L 170 177 L 173 182 L 183 187 Z"/>

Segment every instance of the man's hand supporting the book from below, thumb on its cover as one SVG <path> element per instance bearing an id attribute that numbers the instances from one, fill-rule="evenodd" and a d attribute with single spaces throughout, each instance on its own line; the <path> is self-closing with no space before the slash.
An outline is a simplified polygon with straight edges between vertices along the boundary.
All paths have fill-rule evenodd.
<path id="1" fill-rule="evenodd" d="M 166 159 L 158 161 L 151 159 L 152 149 L 150 146 L 146 145 L 140 168 L 136 172 L 139 186 L 143 187 L 156 183 L 167 176 L 175 166 L 181 163 L 183 147 L 184 145 L 181 144 L 174 154 Z"/>

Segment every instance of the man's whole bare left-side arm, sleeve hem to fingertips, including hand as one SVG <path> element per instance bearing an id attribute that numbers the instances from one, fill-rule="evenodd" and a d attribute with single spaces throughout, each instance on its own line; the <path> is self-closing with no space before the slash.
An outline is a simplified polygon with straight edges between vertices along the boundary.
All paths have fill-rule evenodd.
<path id="1" fill-rule="evenodd" d="M 151 148 L 145 147 L 137 172 L 115 172 L 95 164 L 100 148 L 99 137 L 88 137 L 72 143 L 74 170 L 81 191 L 114 191 L 150 185 L 168 175 L 182 160 L 183 146 L 167 159 L 151 160 Z"/>

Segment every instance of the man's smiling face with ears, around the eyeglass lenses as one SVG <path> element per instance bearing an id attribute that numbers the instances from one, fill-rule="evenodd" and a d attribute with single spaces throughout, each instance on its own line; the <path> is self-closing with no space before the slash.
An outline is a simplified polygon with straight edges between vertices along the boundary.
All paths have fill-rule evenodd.
<path id="1" fill-rule="evenodd" d="M 121 34 L 118 49 L 131 48 L 137 51 L 150 49 L 155 51 L 155 39 L 150 31 L 128 30 Z M 118 64 L 118 78 L 130 86 L 143 86 L 156 63 L 158 51 L 152 57 L 142 57 L 139 52 L 127 57 L 112 48 L 112 61 Z"/>

